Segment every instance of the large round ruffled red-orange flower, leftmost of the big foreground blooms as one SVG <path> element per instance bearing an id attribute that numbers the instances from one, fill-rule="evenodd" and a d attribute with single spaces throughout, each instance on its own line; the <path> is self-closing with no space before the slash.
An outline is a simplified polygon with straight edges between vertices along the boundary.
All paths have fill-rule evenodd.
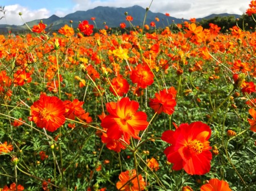
<path id="1" fill-rule="evenodd" d="M 65 106 L 56 96 L 41 95 L 38 101 L 31 105 L 30 121 L 39 128 L 53 132 L 65 122 Z"/>

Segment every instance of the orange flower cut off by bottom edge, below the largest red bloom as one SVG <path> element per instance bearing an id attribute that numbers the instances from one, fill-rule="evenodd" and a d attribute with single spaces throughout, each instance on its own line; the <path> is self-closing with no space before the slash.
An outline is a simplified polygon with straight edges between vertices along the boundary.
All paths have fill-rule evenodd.
<path id="1" fill-rule="evenodd" d="M 208 184 L 201 186 L 200 191 L 232 191 L 228 182 L 218 179 L 210 179 Z"/>

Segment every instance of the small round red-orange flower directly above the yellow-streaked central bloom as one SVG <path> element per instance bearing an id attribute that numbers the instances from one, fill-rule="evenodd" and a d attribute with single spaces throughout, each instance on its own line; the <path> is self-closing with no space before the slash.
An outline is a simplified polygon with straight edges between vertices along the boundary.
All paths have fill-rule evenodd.
<path id="1" fill-rule="evenodd" d="M 129 83 L 125 78 L 116 77 L 112 80 L 112 86 L 109 87 L 109 90 L 115 95 L 123 96 L 129 91 Z M 113 89 L 114 88 L 114 89 Z"/>

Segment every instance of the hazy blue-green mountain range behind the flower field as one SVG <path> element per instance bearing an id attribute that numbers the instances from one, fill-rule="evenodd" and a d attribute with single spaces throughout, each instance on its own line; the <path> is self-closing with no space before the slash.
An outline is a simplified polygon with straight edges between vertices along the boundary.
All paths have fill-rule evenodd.
<path id="1" fill-rule="evenodd" d="M 115 7 L 96 7 L 94 9 L 90 9 L 87 11 L 76 11 L 72 14 L 68 14 L 63 18 L 59 16 L 52 15 L 48 19 L 40 19 L 40 20 L 33 20 L 31 22 L 27 22 L 29 27 L 33 27 L 34 25 L 38 24 L 40 21 L 43 21 L 44 24 L 47 24 L 48 31 L 56 31 L 59 28 L 63 27 L 65 24 L 70 25 L 70 21 L 72 20 L 73 28 L 77 28 L 80 21 L 88 20 L 90 24 L 94 24 L 91 18 L 95 18 L 94 22 L 97 25 L 97 28 L 104 28 L 104 23 L 108 27 L 119 27 L 120 23 L 126 23 L 126 26 L 129 26 L 129 22 L 126 21 L 126 15 L 133 16 L 133 23 L 134 26 L 142 26 L 144 16 L 146 14 L 146 9 L 141 6 L 132 6 L 127 8 L 115 8 Z M 209 15 L 205 18 L 198 18 L 197 21 L 201 19 L 210 19 L 216 16 L 235 16 L 236 18 L 240 18 L 241 15 L 230 15 L 230 14 L 213 14 Z M 156 22 L 155 18 L 159 18 L 159 22 Z M 165 27 L 171 24 L 172 22 L 181 23 L 184 21 L 188 21 L 186 19 L 177 19 L 172 16 L 166 16 L 165 14 L 159 12 L 152 12 L 148 11 L 146 16 L 145 24 L 150 24 L 150 22 L 155 22 L 156 27 Z M 95 24 L 94 24 L 95 25 Z M 95 27 L 95 26 L 94 26 Z M 24 24 L 23 26 L 15 26 L 15 25 L 7 25 L 7 24 L 0 24 L 0 32 L 7 32 L 9 30 L 12 31 L 25 31 L 27 30 L 27 26 Z"/>

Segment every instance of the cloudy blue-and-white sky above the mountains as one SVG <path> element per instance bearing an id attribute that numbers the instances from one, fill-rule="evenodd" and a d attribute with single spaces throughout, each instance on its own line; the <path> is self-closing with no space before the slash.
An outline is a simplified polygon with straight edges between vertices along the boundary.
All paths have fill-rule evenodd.
<path id="1" fill-rule="evenodd" d="M 203 18 L 210 14 L 242 15 L 249 7 L 251 0 L 154 0 L 150 7 L 152 12 L 166 12 L 175 18 Z M 55 14 L 63 17 L 77 10 L 86 11 L 97 6 L 130 7 L 142 6 L 146 9 L 151 0 L 2 0 L 0 6 L 5 6 L 5 18 L 0 24 L 24 24 L 35 19 L 45 19 Z M 0 18 L 3 13 L 0 12 Z"/>

